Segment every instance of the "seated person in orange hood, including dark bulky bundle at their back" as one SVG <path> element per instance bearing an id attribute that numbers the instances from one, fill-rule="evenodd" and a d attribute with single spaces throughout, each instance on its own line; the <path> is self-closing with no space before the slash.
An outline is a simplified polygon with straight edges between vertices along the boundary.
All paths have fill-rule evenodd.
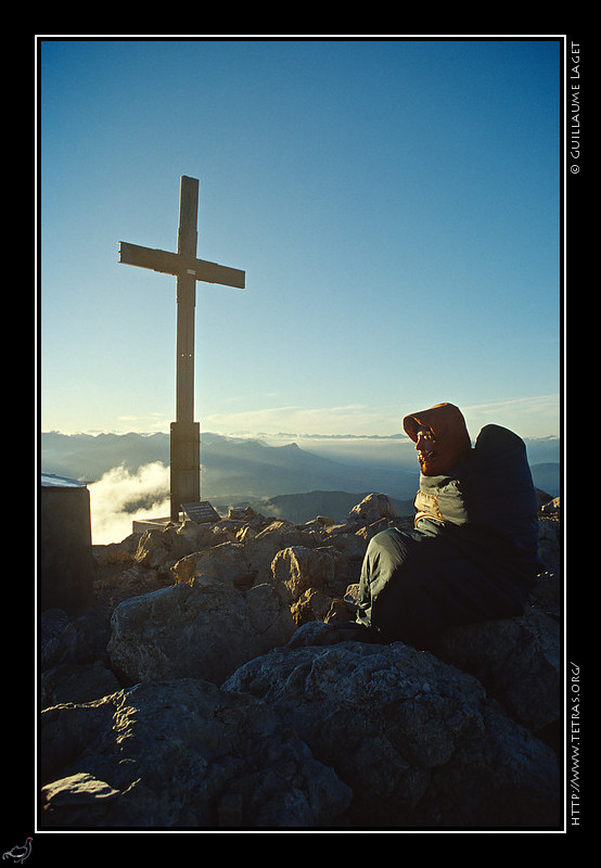
<path id="1" fill-rule="evenodd" d="M 414 527 L 372 537 L 356 638 L 433 650 L 450 626 L 524 611 L 541 569 L 537 498 L 513 432 L 486 425 L 472 447 L 452 404 L 406 416 L 402 426 L 421 471 Z"/>

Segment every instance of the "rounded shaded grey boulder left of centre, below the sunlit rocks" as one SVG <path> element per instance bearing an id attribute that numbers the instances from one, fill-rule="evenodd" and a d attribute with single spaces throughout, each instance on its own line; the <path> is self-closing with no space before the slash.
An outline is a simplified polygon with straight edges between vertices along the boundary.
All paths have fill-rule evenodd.
<path id="1" fill-rule="evenodd" d="M 129 684 L 187 677 L 220 684 L 245 661 L 286 642 L 294 626 L 274 586 L 238 590 L 202 577 L 120 603 L 107 652 Z"/>

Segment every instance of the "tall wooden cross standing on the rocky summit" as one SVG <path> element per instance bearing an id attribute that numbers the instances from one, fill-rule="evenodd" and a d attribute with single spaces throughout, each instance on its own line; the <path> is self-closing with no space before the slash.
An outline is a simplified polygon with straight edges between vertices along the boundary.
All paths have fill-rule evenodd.
<path id="1" fill-rule="evenodd" d="M 176 421 L 170 432 L 171 520 L 201 498 L 201 433 L 194 422 L 194 307 L 196 281 L 244 289 L 244 271 L 196 258 L 199 181 L 180 179 L 177 253 L 119 241 L 119 263 L 177 278 Z"/>

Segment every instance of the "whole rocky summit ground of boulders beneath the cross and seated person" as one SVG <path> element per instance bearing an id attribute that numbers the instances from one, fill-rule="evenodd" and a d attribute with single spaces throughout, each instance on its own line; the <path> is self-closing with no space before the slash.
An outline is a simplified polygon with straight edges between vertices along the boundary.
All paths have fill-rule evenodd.
<path id="1" fill-rule="evenodd" d="M 94 546 L 94 605 L 41 613 L 40 829 L 552 830 L 562 825 L 559 499 L 523 615 L 434 653 L 328 643 L 369 539 L 253 509 Z"/>

